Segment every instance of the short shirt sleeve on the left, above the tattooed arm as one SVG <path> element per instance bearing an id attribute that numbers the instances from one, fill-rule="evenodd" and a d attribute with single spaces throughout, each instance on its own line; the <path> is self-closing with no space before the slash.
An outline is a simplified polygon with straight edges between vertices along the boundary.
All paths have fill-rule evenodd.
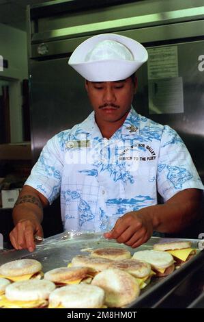
<path id="1" fill-rule="evenodd" d="M 54 136 L 42 149 L 25 184 L 42 193 L 51 204 L 59 196 L 62 171 L 62 152 L 58 136 Z"/>

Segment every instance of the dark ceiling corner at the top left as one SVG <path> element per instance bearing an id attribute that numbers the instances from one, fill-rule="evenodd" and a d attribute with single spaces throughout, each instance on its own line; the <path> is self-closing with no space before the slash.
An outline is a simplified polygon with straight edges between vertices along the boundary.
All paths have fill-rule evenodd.
<path id="1" fill-rule="evenodd" d="M 10 25 L 17 29 L 26 30 L 26 6 L 48 1 L 50 0 L 0 0 L 0 23 L 5 23 L 5 25 Z"/>

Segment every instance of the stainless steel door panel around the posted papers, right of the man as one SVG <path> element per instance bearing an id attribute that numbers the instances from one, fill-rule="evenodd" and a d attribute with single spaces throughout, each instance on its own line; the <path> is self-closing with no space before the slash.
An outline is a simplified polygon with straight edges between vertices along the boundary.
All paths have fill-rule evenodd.
<path id="1" fill-rule="evenodd" d="M 154 42 L 151 43 L 154 48 Z M 150 119 L 168 124 L 186 143 L 199 174 L 204 182 L 204 71 L 199 71 L 199 55 L 203 53 L 204 40 L 174 43 L 158 47 L 177 47 L 179 76 L 183 81 L 184 112 L 149 114 L 147 64 L 136 72 L 139 79 L 138 92 L 134 97 L 134 108 Z"/>

